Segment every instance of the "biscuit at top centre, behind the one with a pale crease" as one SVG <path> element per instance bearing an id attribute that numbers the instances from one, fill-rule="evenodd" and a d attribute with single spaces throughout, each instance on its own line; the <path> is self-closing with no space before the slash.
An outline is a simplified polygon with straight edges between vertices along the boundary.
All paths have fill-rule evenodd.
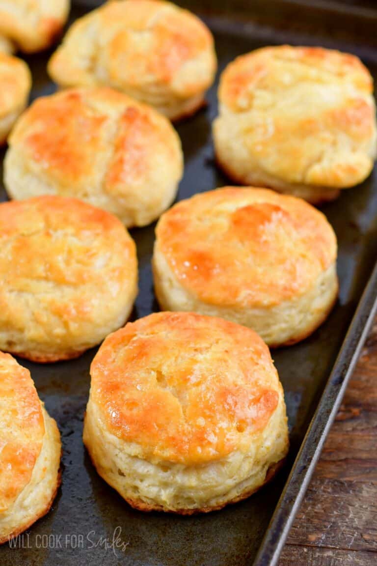
<path id="1" fill-rule="evenodd" d="M 50 59 L 62 87 L 105 84 L 170 119 L 196 112 L 216 72 L 211 32 L 170 2 L 107 2 L 76 20 Z"/>

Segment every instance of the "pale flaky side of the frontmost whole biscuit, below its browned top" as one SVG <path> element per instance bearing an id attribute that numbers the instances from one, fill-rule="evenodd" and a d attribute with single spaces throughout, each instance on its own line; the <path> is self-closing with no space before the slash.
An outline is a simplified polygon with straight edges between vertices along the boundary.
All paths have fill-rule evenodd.
<path id="1" fill-rule="evenodd" d="M 249 497 L 270 481 L 288 452 L 288 429 L 281 394 L 267 426 L 236 450 L 205 464 L 146 460 L 135 443 L 111 434 L 89 400 L 84 444 L 98 474 L 132 507 L 190 515 L 221 509 Z"/>

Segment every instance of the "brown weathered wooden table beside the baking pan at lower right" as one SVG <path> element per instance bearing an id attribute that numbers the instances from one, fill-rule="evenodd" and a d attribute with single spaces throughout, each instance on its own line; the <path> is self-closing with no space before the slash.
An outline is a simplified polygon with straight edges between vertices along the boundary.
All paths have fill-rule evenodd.
<path id="1" fill-rule="evenodd" d="M 377 319 L 279 564 L 377 565 Z"/>

